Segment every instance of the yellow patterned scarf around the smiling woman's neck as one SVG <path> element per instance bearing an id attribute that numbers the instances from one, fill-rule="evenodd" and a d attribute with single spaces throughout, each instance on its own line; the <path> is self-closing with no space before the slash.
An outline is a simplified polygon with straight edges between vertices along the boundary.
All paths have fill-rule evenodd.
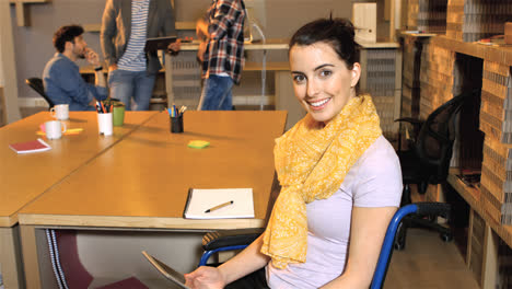
<path id="1" fill-rule="evenodd" d="M 324 128 L 307 114 L 276 140 L 274 153 L 281 193 L 261 247 L 275 267 L 305 262 L 305 205 L 330 197 L 350 167 L 381 135 L 375 106 L 370 95 L 361 95 L 351 99 Z"/>

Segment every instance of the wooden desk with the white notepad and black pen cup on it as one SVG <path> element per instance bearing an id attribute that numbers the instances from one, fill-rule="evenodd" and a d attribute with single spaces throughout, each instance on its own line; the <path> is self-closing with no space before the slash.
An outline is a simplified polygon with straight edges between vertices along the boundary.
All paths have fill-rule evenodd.
<path id="1" fill-rule="evenodd" d="M 42 228 L 208 231 L 264 227 L 272 205 L 275 138 L 283 132 L 286 116 L 286 112 L 269 111 L 187 112 L 184 134 L 170 132 L 166 113 L 151 118 L 21 210 L 28 288 L 40 285 L 36 230 Z M 211 144 L 201 150 L 188 148 L 195 139 Z M 183 219 L 189 187 L 252 187 L 255 218 Z"/>

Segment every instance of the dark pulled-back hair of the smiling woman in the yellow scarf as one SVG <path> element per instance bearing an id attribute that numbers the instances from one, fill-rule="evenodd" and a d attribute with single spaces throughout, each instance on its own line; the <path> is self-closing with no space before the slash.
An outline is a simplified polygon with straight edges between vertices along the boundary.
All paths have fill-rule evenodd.
<path id="1" fill-rule="evenodd" d="M 345 61 L 348 69 L 359 62 L 360 46 L 354 42 L 352 23 L 347 19 L 318 19 L 300 27 L 290 39 L 290 49 L 294 45 L 312 45 L 318 42 L 330 44 Z"/>

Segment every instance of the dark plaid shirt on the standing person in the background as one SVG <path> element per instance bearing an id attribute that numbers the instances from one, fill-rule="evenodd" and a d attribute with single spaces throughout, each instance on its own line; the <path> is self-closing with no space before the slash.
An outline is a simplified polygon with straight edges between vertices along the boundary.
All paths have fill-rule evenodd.
<path id="1" fill-rule="evenodd" d="M 238 84 L 244 66 L 245 5 L 242 0 L 213 0 L 206 14 L 210 39 L 202 62 L 202 78 L 222 74 Z"/>

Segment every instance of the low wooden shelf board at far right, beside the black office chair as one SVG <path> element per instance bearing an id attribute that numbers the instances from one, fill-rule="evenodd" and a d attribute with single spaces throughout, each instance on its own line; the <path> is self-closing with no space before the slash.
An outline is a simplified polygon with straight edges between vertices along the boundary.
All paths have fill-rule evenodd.
<path id="1" fill-rule="evenodd" d="M 447 183 L 461 194 L 461 196 L 469 204 L 469 206 L 480 215 L 486 223 L 510 246 L 512 247 L 512 226 L 503 226 L 494 221 L 489 213 L 485 210 L 480 199 L 475 196 L 479 196 L 480 192 L 476 187 L 469 187 L 464 184 L 461 178 L 451 171 L 447 177 Z"/>

